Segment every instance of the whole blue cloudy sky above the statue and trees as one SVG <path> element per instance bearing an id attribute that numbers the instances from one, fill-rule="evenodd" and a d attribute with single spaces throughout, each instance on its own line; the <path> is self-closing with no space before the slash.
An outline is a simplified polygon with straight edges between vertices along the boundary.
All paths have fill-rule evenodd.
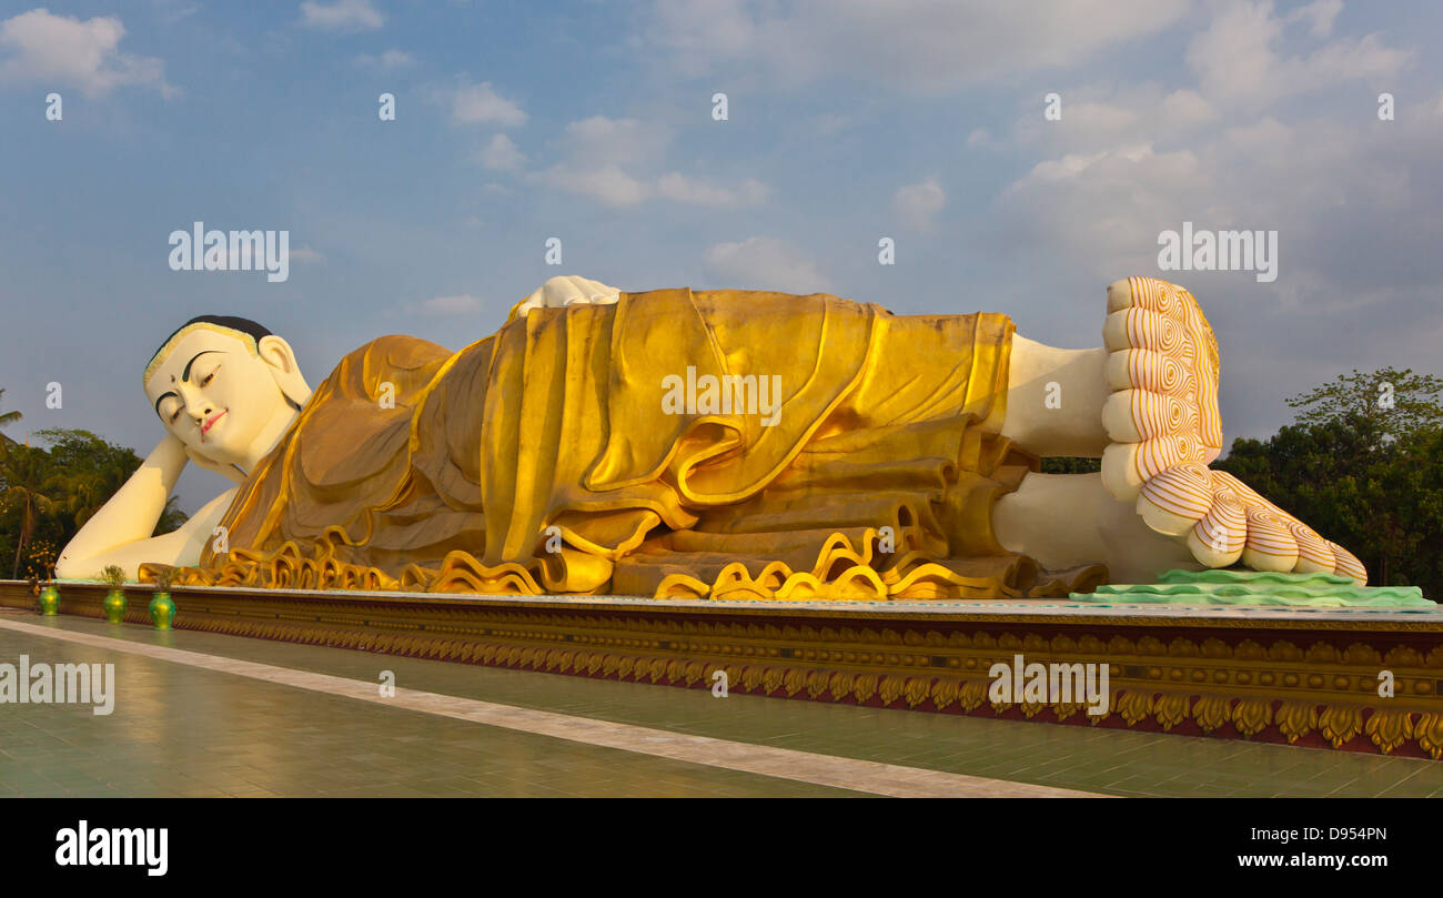
<path id="1" fill-rule="evenodd" d="M 0 4 L 7 433 L 144 455 L 140 371 L 199 313 L 316 384 L 382 334 L 485 336 L 554 274 L 999 310 L 1061 346 L 1153 274 L 1218 332 L 1228 440 L 1266 436 L 1354 367 L 1443 374 L 1440 38 L 1429 1 Z M 290 279 L 172 271 L 195 221 L 289 230 Z M 1159 271 L 1183 221 L 1276 230 L 1277 280 Z M 188 472 L 182 504 L 225 485 Z"/>

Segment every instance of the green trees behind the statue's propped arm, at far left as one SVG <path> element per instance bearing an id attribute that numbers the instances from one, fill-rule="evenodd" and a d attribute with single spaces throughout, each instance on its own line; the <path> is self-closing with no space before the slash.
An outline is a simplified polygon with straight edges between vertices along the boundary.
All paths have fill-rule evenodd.
<path id="1" fill-rule="evenodd" d="M 25 569 L 48 579 L 55 564 L 53 550 L 71 541 L 81 524 L 140 468 L 141 459 L 88 430 L 46 429 L 35 436 L 49 443 L 49 449 L 0 437 L 0 572 L 9 566 L 12 577 Z M 170 533 L 185 521 L 176 497 L 170 497 L 154 534 Z M 32 557 L 33 543 L 49 546 L 52 553 Z M 45 575 L 36 573 L 42 569 Z"/>

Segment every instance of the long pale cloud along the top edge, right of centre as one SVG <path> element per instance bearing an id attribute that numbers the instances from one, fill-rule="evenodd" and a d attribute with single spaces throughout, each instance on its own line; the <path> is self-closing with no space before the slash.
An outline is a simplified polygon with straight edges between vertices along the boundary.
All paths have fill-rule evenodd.
<path id="1" fill-rule="evenodd" d="M 1074 66 L 1156 33 L 1189 0 L 657 0 L 648 39 L 683 75 L 756 84 L 853 78 L 929 92 Z"/>

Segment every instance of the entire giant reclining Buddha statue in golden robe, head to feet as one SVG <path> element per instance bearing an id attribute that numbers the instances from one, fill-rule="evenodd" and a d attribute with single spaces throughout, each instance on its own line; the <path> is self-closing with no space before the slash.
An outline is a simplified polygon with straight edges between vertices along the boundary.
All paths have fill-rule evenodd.
<path id="1" fill-rule="evenodd" d="M 557 277 L 492 335 L 355 349 L 201 316 L 144 370 L 165 439 L 62 577 L 713 599 L 1056 596 L 1241 564 L 1367 582 L 1209 468 L 1218 345 L 1193 296 L 1107 289 L 1102 346 L 999 313 Z M 1049 475 L 1040 459 L 1101 458 Z M 237 487 L 150 536 L 188 463 Z"/>

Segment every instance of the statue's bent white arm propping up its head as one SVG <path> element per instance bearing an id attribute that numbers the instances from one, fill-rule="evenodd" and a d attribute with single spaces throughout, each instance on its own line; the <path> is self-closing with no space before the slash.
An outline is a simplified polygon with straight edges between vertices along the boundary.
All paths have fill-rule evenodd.
<path id="1" fill-rule="evenodd" d="M 92 577 L 107 564 L 120 564 L 133 577 L 141 562 L 175 564 L 199 560 L 205 540 L 225 514 L 235 489 L 208 502 L 175 533 L 150 536 L 186 461 L 185 445 L 166 435 L 126 485 L 65 546 L 55 563 L 55 575 Z"/>

